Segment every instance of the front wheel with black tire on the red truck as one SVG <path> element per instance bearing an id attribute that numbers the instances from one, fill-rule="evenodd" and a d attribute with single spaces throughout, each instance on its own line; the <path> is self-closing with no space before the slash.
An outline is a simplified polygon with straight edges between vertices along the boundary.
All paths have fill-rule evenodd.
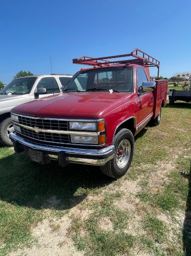
<path id="1" fill-rule="evenodd" d="M 100 166 L 102 172 L 112 178 L 120 178 L 129 168 L 134 155 L 134 135 L 121 128 L 114 137 L 115 155 L 112 160 Z"/>

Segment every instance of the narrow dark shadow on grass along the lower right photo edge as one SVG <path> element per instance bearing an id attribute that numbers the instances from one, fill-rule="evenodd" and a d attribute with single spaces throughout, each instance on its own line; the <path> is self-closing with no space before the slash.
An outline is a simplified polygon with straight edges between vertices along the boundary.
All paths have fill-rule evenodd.
<path id="1" fill-rule="evenodd" d="M 190 173 L 187 175 L 189 191 L 186 203 L 184 229 L 183 229 L 183 250 L 185 256 L 191 256 L 191 163 L 190 163 Z"/>

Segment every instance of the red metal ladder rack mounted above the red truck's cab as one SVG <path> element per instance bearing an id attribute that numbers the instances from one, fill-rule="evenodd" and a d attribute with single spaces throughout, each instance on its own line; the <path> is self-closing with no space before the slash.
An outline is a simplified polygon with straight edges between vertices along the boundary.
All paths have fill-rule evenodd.
<path id="1" fill-rule="evenodd" d="M 128 59 L 128 60 L 116 60 L 112 61 L 109 59 L 117 59 L 117 58 L 124 58 L 124 57 L 134 57 L 135 59 Z M 138 64 L 143 67 L 157 67 L 158 68 L 158 77 L 159 77 L 159 61 L 146 54 L 145 52 L 141 51 L 140 49 L 134 49 L 130 54 L 122 54 L 122 55 L 114 55 L 114 56 L 107 56 L 107 57 L 100 57 L 100 58 L 92 58 L 88 56 L 82 56 L 78 59 L 73 59 L 74 64 L 82 64 L 82 65 L 89 65 L 89 66 L 100 66 L 100 65 L 107 65 L 107 64 Z M 146 68 L 146 69 L 147 69 Z"/>

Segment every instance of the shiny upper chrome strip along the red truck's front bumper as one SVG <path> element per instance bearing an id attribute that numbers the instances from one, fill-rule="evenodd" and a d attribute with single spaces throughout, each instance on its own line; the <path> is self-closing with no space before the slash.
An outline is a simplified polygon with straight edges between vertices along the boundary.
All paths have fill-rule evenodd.
<path id="1" fill-rule="evenodd" d="M 58 147 L 58 146 L 45 146 L 45 145 L 39 145 L 39 144 L 33 144 L 29 141 L 25 141 L 23 138 L 19 137 L 18 135 L 14 133 L 10 133 L 9 137 L 13 141 L 19 141 L 21 144 L 23 144 L 26 147 L 30 147 L 32 149 L 37 150 L 45 150 L 52 153 L 58 153 L 60 151 L 64 151 L 65 153 L 71 153 L 71 154 L 84 154 L 91 156 L 96 155 L 105 155 L 109 152 L 112 152 L 112 150 L 115 148 L 114 145 L 109 146 L 108 148 L 102 148 L 102 149 L 82 149 L 82 148 L 67 148 L 67 147 Z M 87 145 L 86 145 L 87 146 Z"/>

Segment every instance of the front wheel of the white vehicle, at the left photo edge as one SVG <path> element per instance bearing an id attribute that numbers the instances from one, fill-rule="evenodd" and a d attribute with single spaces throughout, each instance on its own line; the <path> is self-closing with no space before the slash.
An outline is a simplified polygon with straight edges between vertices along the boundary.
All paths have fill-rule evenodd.
<path id="1" fill-rule="evenodd" d="M 0 142 L 8 147 L 13 146 L 13 142 L 9 139 L 9 134 L 14 130 L 11 117 L 4 119 L 0 123 Z"/>

